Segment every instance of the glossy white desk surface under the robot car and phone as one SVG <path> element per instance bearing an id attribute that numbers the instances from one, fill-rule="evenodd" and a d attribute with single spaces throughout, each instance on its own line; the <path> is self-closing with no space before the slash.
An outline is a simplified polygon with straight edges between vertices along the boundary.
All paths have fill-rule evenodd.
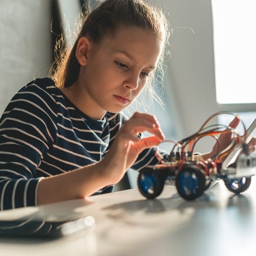
<path id="1" fill-rule="evenodd" d="M 192 202 L 168 185 L 155 200 L 132 189 L 35 208 L 53 219 L 93 216 L 95 225 L 58 239 L 2 237 L 1 256 L 256 255 L 254 177 L 241 195 L 219 181 Z"/>

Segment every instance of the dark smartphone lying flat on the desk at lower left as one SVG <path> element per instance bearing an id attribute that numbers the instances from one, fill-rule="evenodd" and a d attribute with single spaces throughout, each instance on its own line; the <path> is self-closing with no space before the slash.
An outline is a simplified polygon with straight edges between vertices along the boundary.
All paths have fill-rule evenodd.
<path id="1" fill-rule="evenodd" d="M 93 216 L 66 216 L 60 220 L 53 216 L 44 218 L 40 210 L 34 209 L 36 207 L 24 207 L 0 212 L 0 237 L 59 238 L 88 228 L 92 230 L 95 224 Z"/>

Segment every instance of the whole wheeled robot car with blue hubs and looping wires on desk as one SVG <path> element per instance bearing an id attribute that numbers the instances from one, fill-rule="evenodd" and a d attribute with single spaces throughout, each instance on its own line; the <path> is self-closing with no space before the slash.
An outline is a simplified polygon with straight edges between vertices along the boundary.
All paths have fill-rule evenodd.
<path id="1" fill-rule="evenodd" d="M 211 125 L 206 127 L 210 119 L 220 114 L 212 115 L 198 132 L 179 142 L 174 143 L 170 158 L 164 159 L 157 151 L 156 157 L 159 164 L 147 166 L 139 171 L 138 189 L 147 199 L 158 197 L 164 188 L 165 182 L 175 180 L 178 193 L 186 200 L 194 200 L 209 188 L 212 181 L 222 179 L 228 190 L 239 194 L 249 188 L 252 176 L 256 173 L 256 157 L 248 154 L 247 143 L 252 139 L 256 129 L 256 119 L 248 128 L 244 128 L 244 135 L 229 126 Z M 212 159 L 203 159 L 193 153 L 195 144 L 205 136 L 212 136 L 219 145 L 220 133 L 232 132 L 233 138 L 230 145 L 218 152 Z M 202 158 L 202 159 L 201 159 Z"/>

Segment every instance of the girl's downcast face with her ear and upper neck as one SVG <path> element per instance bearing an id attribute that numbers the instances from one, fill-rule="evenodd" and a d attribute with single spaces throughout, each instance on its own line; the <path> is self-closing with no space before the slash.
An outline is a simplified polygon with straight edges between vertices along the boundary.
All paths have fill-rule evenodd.
<path id="1" fill-rule="evenodd" d="M 88 116 L 102 119 L 106 111 L 123 110 L 141 93 L 157 66 L 162 44 L 149 32 L 132 27 L 120 28 L 100 44 L 83 40 L 87 47 L 81 47 L 84 59 L 74 84 L 77 105 Z"/>

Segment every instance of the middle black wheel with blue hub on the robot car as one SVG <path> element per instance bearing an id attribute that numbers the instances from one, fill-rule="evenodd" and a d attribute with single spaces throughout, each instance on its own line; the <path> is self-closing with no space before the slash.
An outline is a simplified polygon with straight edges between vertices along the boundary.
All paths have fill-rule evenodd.
<path id="1" fill-rule="evenodd" d="M 199 169 L 182 168 L 176 177 L 176 188 L 182 198 L 194 200 L 206 190 L 205 177 Z"/>

